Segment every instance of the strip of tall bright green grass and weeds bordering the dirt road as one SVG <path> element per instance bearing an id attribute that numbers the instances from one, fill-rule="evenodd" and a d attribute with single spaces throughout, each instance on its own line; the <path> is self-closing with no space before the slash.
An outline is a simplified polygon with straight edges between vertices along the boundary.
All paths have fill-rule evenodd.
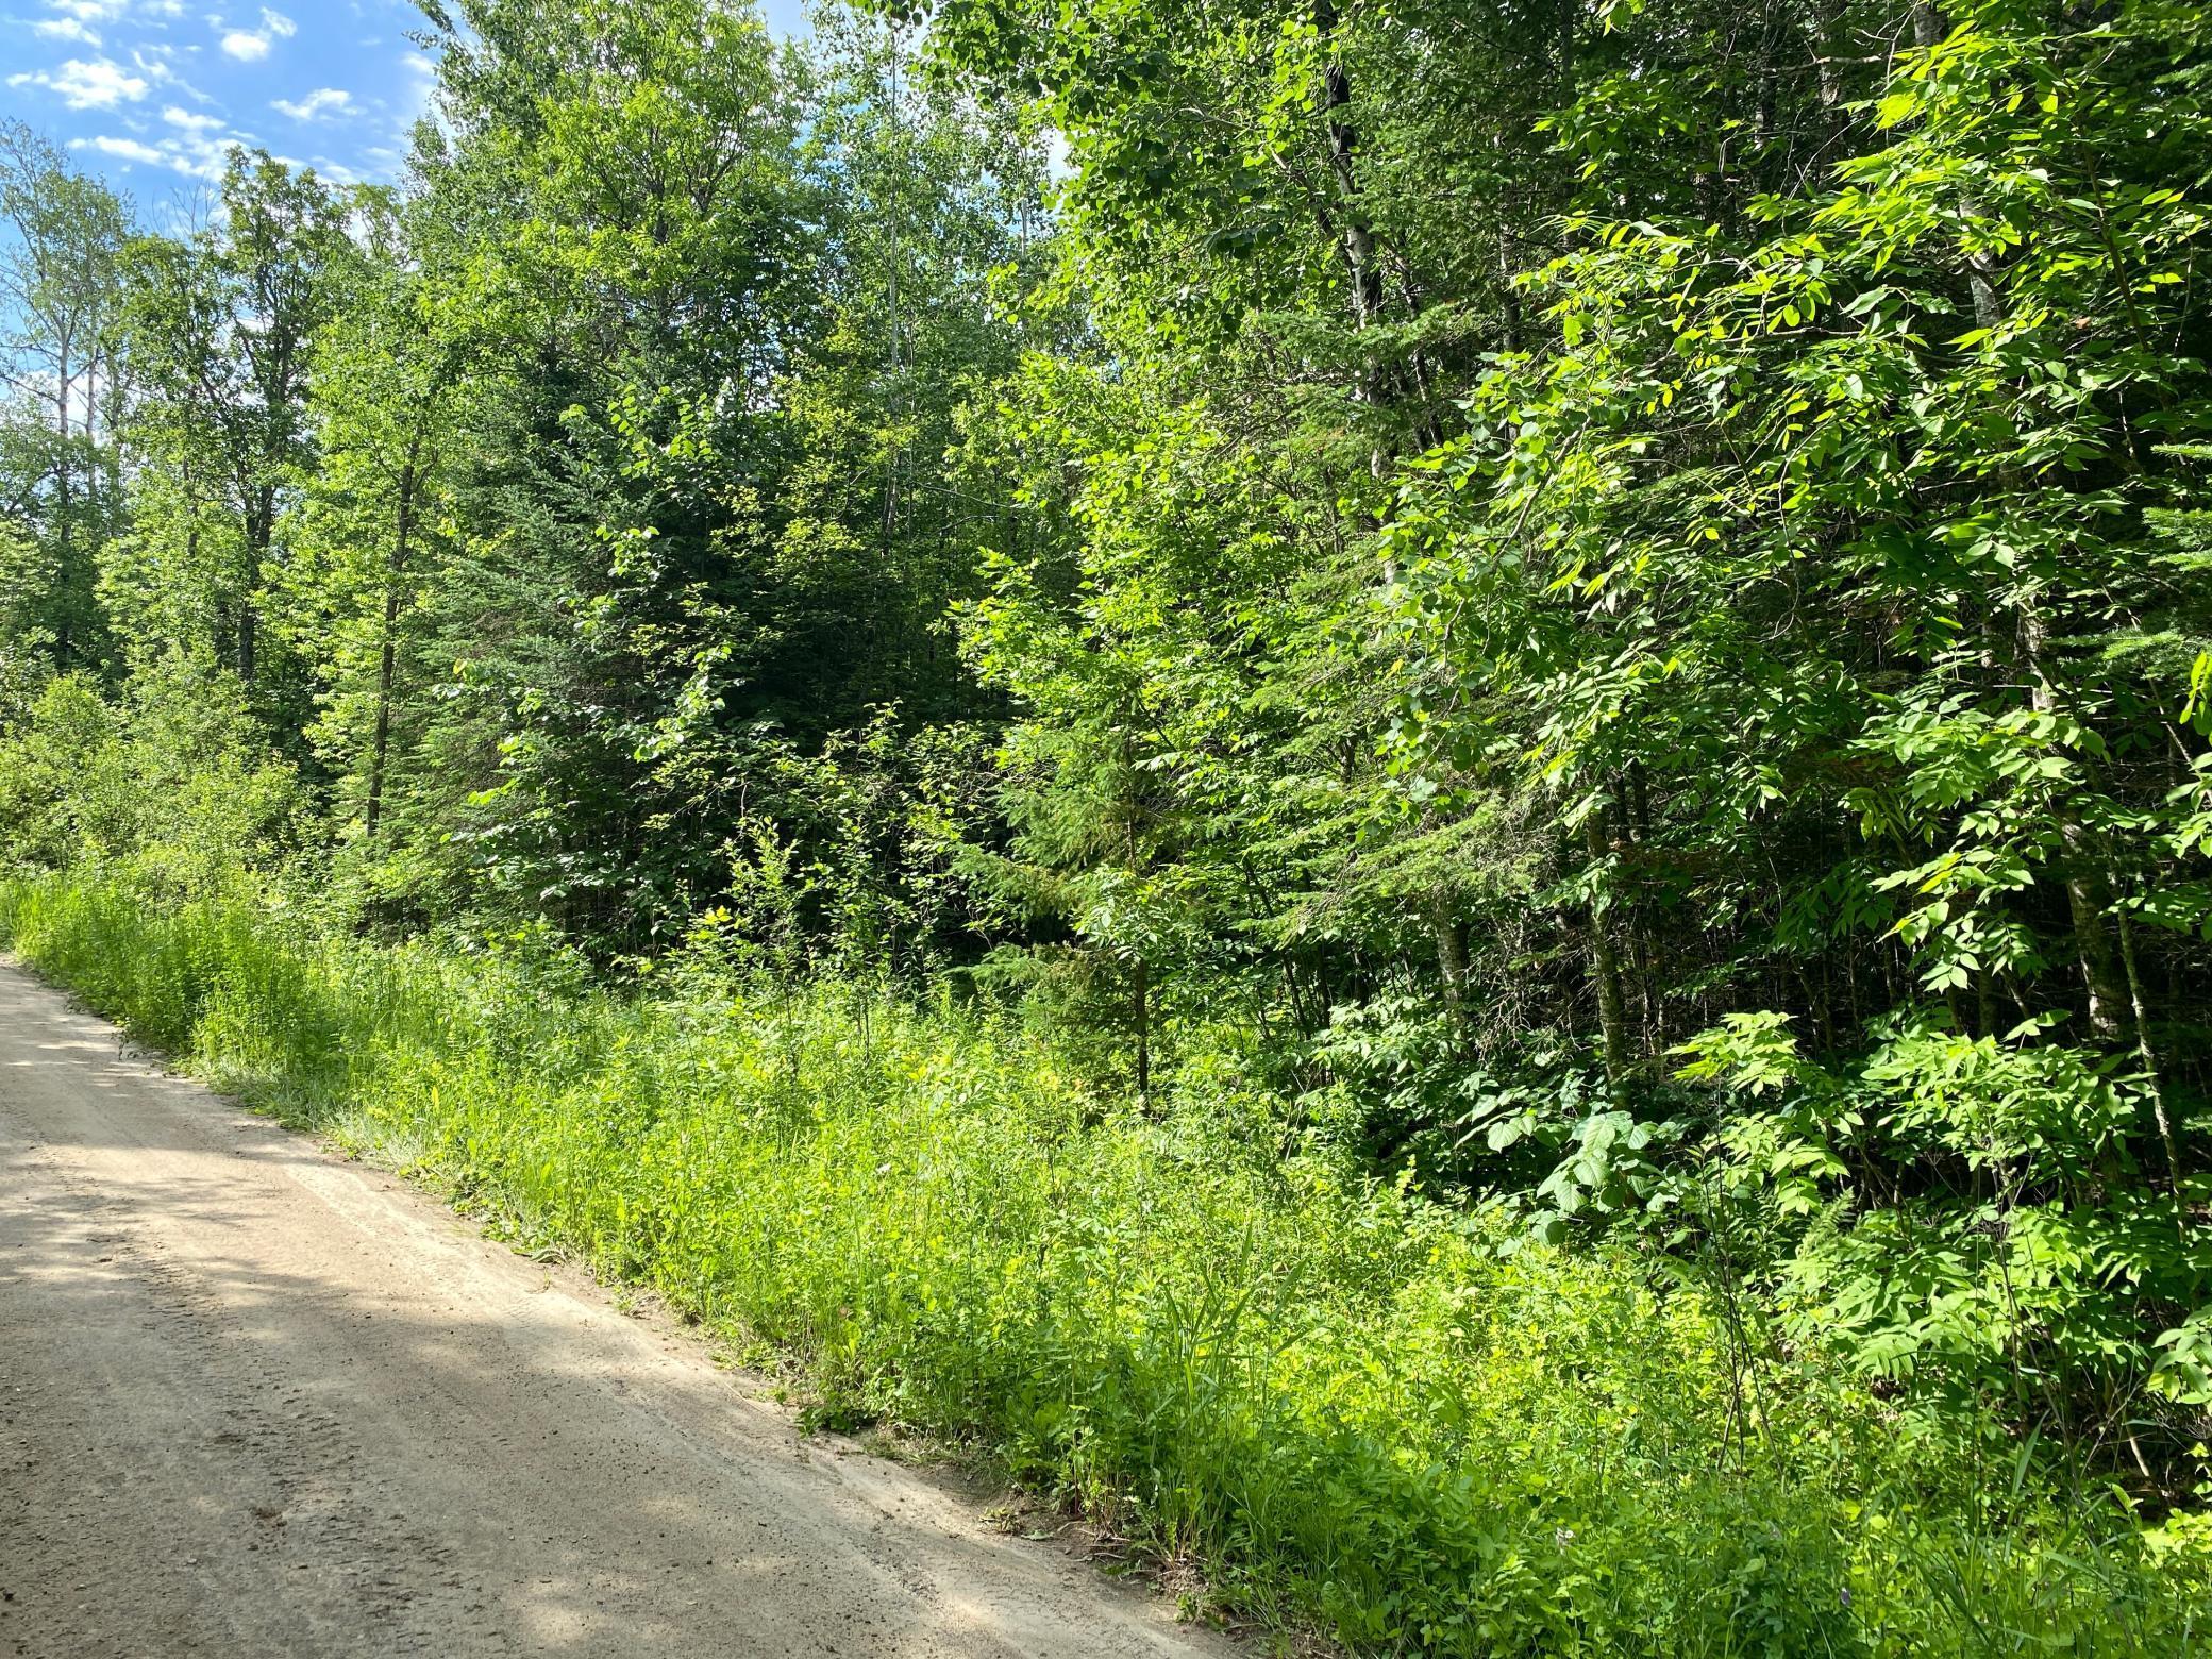
<path id="1" fill-rule="evenodd" d="M 2205 1646 L 2201 1522 L 2044 1495 L 1641 1259 L 1502 1250 L 1285 1152 L 1228 1086 L 1161 1124 L 849 987 L 613 998 L 66 878 L 0 887 L 0 938 L 217 1084 L 774 1345 L 823 1418 L 987 1449 L 1354 1648 Z"/>

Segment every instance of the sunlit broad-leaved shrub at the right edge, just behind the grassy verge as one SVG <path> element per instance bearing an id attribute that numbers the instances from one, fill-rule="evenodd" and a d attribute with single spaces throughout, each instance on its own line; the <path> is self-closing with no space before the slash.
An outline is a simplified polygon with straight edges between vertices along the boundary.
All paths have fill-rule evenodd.
<path id="1" fill-rule="evenodd" d="M 2039 1031 L 2000 1042 L 1938 1020 L 1818 1066 L 1787 1026 L 1736 1015 L 1688 1046 L 1686 1075 L 1730 1091 L 1721 1179 L 1778 1223 L 1794 1334 L 1920 1398 L 1975 1394 L 2183 1467 L 2212 1429 L 2205 1183 L 2177 1168 L 2183 1201 L 2135 1177 L 2130 1144 L 2157 1144 L 2161 1110 L 2146 1079 Z"/>

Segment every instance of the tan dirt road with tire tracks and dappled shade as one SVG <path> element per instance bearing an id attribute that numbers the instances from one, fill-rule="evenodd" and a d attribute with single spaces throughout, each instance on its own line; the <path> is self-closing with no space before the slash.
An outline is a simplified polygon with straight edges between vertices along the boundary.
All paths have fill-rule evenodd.
<path id="1" fill-rule="evenodd" d="M 0 964 L 0 1655 L 1208 1650 Z"/>

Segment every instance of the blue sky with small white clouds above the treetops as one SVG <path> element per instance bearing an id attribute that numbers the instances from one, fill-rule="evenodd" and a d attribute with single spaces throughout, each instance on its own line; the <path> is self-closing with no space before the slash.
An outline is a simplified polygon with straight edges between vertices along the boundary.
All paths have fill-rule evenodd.
<path id="1" fill-rule="evenodd" d="M 799 0 L 768 0 L 776 29 Z M 336 181 L 389 179 L 429 97 L 411 0 L 0 0 L 0 113 L 155 219 L 261 144 Z"/>

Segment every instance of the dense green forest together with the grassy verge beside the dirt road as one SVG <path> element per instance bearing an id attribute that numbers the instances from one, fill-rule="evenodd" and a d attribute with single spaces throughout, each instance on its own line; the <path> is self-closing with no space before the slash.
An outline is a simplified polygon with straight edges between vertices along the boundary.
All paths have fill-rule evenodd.
<path id="1" fill-rule="evenodd" d="M 20 960 L 1283 1652 L 2212 1648 L 2212 13 L 420 4 L 0 128 Z"/>

